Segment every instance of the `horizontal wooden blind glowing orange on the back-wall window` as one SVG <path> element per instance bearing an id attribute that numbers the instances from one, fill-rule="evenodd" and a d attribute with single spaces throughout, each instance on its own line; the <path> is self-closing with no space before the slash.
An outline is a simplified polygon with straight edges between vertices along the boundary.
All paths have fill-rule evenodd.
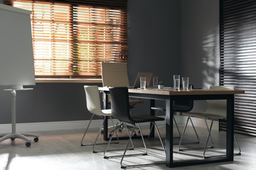
<path id="1" fill-rule="evenodd" d="M 101 78 L 102 61 L 127 61 L 127 0 L 4 3 L 32 10 L 36 78 Z"/>

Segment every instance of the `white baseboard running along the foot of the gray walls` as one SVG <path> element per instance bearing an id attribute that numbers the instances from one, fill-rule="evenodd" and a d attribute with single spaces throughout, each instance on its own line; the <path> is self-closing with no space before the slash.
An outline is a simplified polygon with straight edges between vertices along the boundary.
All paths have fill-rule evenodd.
<path id="1" fill-rule="evenodd" d="M 185 124 L 186 116 L 175 115 L 177 124 Z M 205 127 L 202 119 L 193 119 L 194 126 Z M 66 122 L 37 122 L 37 123 L 24 123 L 16 124 L 16 132 L 32 132 L 32 131 L 51 131 L 51 130 L 66 130 L 66 129 L 85 129 L 89 124 L 89 120 L 77 120 Z M 93 120 L 90 128 L 98 128 L 102 124 L 102 120 Z M 111 124 L 111 122 L 109 122 Z M 116 124 L 116 120 L 114 120 Z M 165 122 L 158 122 L 158 125 L 164 125 Z M 190 124 L 188 124 L 190 126 Z M 0 133 L 11 133 L 11 124 L 0 124 Z M 219 129 L 219 122 L 213 123 L 213 129 Z"/>

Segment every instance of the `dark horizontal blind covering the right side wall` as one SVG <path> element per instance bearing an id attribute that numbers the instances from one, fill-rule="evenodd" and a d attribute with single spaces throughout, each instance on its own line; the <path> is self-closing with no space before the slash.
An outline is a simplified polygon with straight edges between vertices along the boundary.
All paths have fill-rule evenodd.
<path id="1" fill-rule="evenodd" d="M 234 130 L 256 135 L 256 1 L 220 1 L 220 84 L 233 85 Z"/>

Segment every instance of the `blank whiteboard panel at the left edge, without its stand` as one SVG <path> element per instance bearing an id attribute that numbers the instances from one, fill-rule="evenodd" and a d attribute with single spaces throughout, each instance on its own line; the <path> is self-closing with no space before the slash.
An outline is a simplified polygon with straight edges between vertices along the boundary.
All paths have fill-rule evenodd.
<path id="1" fill-rule="evenodd" d="M 0 86 L 35 85 L 30 14 L 0 4 Z"/>

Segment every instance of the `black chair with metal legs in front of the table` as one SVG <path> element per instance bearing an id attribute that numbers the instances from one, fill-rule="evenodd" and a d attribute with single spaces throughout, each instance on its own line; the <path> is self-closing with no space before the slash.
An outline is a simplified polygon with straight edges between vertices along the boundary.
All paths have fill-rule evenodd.
<path id="1" fill-rule="evenodd" d="M 106 152 L 108 151 L 108 146 L 110 145 L 110 143 L 112 141 L 112 137 L 113 137 L 113 135 L 112 135 L 110 137 L 110 140 L 108 141 L 108 146 L 106 147 L 106 150 L 104 152 L 104 158 L 107 159 L 107 158 L 114 158 L 114 157 L 122 157 L 121 161 L 120 161 L 121 168 L 165 163 L 165 161 L 161 161 L 161 162 L 148 163 L 148 164 L 137 164 L 137 165 L 126 165 L 126 166 L 123 165 L 123 158 L 125 158 L 125 156 L 138 156 L 138 155 L 143 155 L 144 156 L 144 155 L 148 154 L 146 144 L 144 142 L 143 135 L 142 135 L 142 130 L 140 128 L 140 123 L 151 122 L 152 124 L 154 124 L 154 127 L 156 127 L 156 131 L 158 132 L 158 137 L 160 138 L 161 146 L 163 147 L 163 150 L 165 152 L 165 147 L 163 146 L 163 142 L 161 141 L 161 135 L 160 135 L 160 132 L 158 130 L 158 126 L 156 126 L 156 123 L 155 123 L 156 121 L 163 121 L 165 119 L 161 118 L 161 117 L 157 117 L 157 116 L 150 116 L 148 114 L 131 116 L 130 107 L 129 107 L 129 93 L 128 93 L 128 88 L 127 87 L 110 88 L 110 97 L 111 97 L 111 101 L 112 101 L 111 102 L 111 110 L 112 110 L 112 115 L 114 116 L 114 118 L 116 118 L 120 122 L 123 122 L 125 124 L 125 126 L 126 126 L 127 123 L 131 124 L 133 126 L 133 130 L 132 130 L 131 134 L 128 133 L 129 134 L 129 141 L 127 142 L 127 146 L 126 146 L 125 151 L 123 152 L 122 155 L 106 156 Z M 131 138 L 132 138 L 133 133 L 135 131 L 136 124 L 138 125 L 139 130 L 140 130 L 140 135 L 142 137 L 142 142 L 144 144 L 145 152 L 143 152 L 142 154 L 125 155 L 125 153 L 127 152 L 127 148 L 129 146 L 129 143 L 130 142 L 132 143 Z M 114 129 L 114 133 L 115 133 L 115 131 L 116 131 L 116 128 Z"/>

